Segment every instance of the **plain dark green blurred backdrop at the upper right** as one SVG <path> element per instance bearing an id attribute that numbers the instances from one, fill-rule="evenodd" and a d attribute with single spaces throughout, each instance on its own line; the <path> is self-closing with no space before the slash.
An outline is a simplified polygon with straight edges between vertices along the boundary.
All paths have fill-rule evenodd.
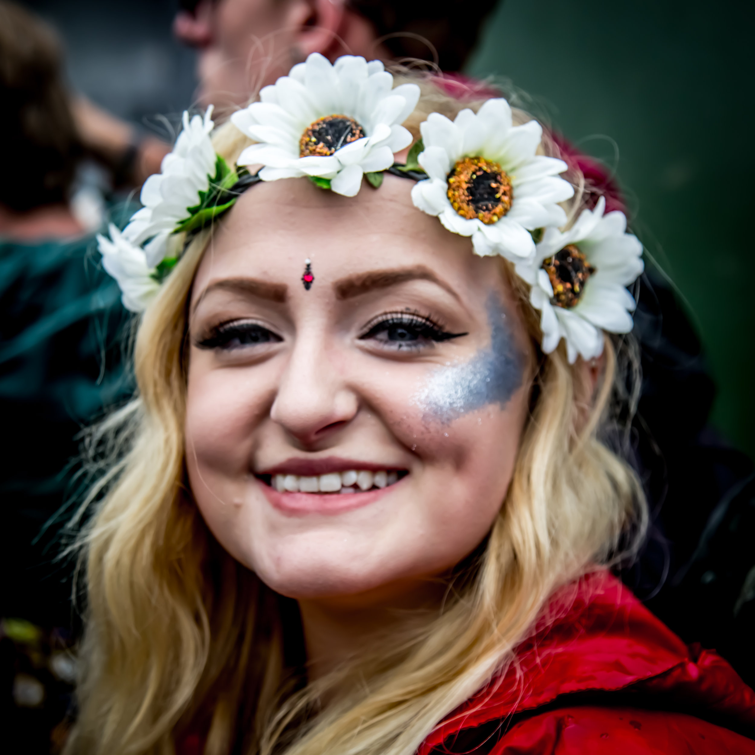
<path id="1" fill-rule="evenodd" d="M 702 337 L 718 386 L 713 424 L 750 455 L 753 8 L 505 0 L 467 66 L 508 79 L 531 112 L 615 169 L 633 230 Z"/>

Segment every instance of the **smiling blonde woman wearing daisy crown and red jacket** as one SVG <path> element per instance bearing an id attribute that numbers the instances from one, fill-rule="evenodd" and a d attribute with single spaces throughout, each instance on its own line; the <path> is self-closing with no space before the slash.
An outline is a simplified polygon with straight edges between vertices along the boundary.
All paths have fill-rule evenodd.
<path id="1" fill-rule="evenodd" d="M 186 118 L 100 238 L 139 394 L 92 436 L 69 752 L 755 751 L 750 689 L 607 571 L 646 526 L 600 440 L 626 218 L 505 100 L 393 84 L 310 58 Z M 358 137 L 297 146 L 328 118 Z"/>

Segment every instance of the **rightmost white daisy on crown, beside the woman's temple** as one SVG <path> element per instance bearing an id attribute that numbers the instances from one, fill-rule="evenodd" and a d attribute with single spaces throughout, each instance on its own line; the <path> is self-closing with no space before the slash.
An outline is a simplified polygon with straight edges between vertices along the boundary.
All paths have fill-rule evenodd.
<path id="1" fill-rule="evenodd" d="M 600 356 L 601 331 L 628 333 L 636 307 L 627 285 L 645 269 L 643 245 L 627 231 L 623 212 L 604 215 L 601 197 L 565 233 L 548 228 L 531 263 L 516 273 L 532 285 L 529 300 L 541 310 L 542 349 L 551 353 L 562 338 L 569 362 Z"/>

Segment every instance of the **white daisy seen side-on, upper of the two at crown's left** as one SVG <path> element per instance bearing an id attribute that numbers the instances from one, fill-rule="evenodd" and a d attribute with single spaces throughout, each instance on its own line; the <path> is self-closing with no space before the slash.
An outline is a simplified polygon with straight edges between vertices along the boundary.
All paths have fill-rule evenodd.
<path id="1" fill-rule="evenodd" d="M 156 267 L 167 253 L 168 236 L 189 220 L 189 208 L 202 202 L 210 181 L 217 173 L 217 155 L 210 140 L 214 127 L 212 106 L 205 117 L 183 113 L 183 131 L 171 153 L 162 159 L 160 173 L 150 176 L 142 186 L 144 205 L 131 217 L 123 236 L 135 245 L 145 245 L 149 267 Z"/>

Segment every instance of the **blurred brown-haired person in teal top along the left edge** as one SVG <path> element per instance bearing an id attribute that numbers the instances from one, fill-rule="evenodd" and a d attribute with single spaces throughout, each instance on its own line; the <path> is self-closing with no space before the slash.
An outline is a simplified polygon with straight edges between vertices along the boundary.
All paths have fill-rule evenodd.
<path id="1" fill-rule="evenodd" d="M 128 383 L 108 350 L 125 315 L 91 257 L 97 218 L 73 192 L 86 149 L 60 44 L 11 2 L 0 2 L 0 97 L 0 732 L 46 753 L 75 670 L 70 582 L 41 533 L 70 492 L 82 424 Z"/>

